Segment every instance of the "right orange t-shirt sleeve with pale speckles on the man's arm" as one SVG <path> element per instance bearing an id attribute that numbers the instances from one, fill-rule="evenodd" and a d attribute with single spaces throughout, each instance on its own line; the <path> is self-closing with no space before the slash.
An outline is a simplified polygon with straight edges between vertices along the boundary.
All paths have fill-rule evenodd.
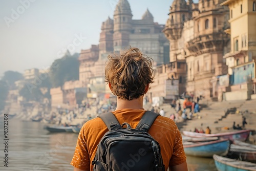
<path id="1" fill-rule="evenodd" d="M 181 164 L 186 161 L 186 155 L 183 148 L 182 143 L 182 136 L 181 133 L 176 125 L 176 138 L 175 138 L 175 144 L 173 148 L 173 156 L 170 158 L 169 166 L 174 166 Z"/>

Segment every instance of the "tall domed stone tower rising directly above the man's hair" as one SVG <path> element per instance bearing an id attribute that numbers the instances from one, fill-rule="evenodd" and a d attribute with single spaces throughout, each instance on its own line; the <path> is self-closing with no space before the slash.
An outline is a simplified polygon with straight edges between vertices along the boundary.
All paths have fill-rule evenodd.
<path id="1" fill-rule="evenodd" d="M 120 0 L 114 12 L 114 52 L 129 46 L 129 35 L 132 31 L 132 11 L 127 0 Z"/>

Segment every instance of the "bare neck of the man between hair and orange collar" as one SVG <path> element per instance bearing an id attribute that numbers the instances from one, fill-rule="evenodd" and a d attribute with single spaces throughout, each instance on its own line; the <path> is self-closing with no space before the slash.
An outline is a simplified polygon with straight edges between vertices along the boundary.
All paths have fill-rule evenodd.
<path id="1" fill-rule="evenodd" d="M 122 100 L 117 98 L 116 110 L 120 109 L 143 109 L 143 96 L 133 100 Z"/>

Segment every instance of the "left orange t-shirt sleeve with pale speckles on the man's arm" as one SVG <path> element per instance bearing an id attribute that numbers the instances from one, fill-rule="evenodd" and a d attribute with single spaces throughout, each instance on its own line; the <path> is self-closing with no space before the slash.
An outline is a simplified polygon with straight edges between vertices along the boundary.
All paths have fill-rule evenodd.
<path id="1" fill-rule="evenodd" d="M 84 136 L 84 125 L 78 135 L 74 156 L 70 164 L 81 170 L 90 170 L 90 157 L 87 149 L 87 139 Z"/>

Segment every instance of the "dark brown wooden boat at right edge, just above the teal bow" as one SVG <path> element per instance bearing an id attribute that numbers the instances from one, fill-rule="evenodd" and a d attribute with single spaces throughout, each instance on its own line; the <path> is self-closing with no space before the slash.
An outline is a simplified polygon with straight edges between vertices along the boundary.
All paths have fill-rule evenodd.
<path id="1" fill-rule="evenodd" d="M 229 158 L 256 162 L 256 148 L 231 144 L 227 154 Z"/>

